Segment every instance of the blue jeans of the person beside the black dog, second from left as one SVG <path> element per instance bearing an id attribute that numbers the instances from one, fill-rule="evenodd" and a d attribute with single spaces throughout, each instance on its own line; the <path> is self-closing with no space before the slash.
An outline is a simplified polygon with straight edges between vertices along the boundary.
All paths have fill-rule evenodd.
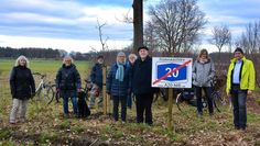
<path id="1" fill-rule="evenodd" d="M 78 115 L 78 106 L 77 106 L 77 92 L 71 90 L 61 91 L 61 97 L 63 98 L 63 111 L 64 115 L 68 114 L 68 98 L 72 99 L 73 103 L 73 112 L 75 115 Z"/>

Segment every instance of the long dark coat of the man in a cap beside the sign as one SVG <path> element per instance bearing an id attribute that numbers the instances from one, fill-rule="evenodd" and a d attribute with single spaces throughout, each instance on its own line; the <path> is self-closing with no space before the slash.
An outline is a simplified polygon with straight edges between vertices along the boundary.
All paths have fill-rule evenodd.
<path id="1" fill-rule="evenodd" d="M 152 88 L 152 58 L 144 60 L 138 58 L 132 67 L 132 91 L 134 94 L 154 93 L 158 89 Z"/>

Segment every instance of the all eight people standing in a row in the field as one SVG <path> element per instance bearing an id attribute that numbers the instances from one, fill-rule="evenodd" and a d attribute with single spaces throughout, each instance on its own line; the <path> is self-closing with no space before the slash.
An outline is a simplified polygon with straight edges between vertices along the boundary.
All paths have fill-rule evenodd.
<path id="1" fill-rule="evenodd" d="M 132 106 L 132 97 L 136 97 L 137 122 L 153 124 L 152 102 L 153 94 L 159 91 L 158 88 L 151 87 L 152 58 L 149 56 L 149 48 L 145 46 L 138 48 L 137 57 L 134 54 L 127 56 L 123 52 L 117 54 L 116 63 L 111 66 L 107 76 L 106 89 L 111 96 L 113 108 L 113 120 L 119 120 L 119 104 L 121 104 L 121 121 L 127 121 L 127 106 Z M 90 72 L 93 88 L 102 89 L 102 66 L 104 56 L 97 58 L 97 64 Z M 195 59 L 192 70 L 193 86 L 197 98 L 197 115 L 203 116 L 202 90 L 205 91 L 208 102 L 209 115 L 214 114 L 212 91 L 213 78 L 215 76 L 214 61 L 206 49 L 202 49 Z M 254 89 L 256 71 L 251 60 L 246 59 L 241 48 L 237 47 L 234 52 L 234 59 L 228 68 L 227 74 L 227 97 L 231 99 L 234 105 L 234 125 L 237 130 L 247 127 L 247 97 L 252 94 Z M 20 122 L 25 122 L 26 104 L 31 97 L 35 94 L 35 83 L 29 60 L 25 56 L 20 56 L 10 76 L 11 94 L 13 105 L 10 114 L 10 123 L 17 123 L 19 106 L 21 106 Z M 82 81 L 73 58 L 64 57 L 63 65 L 56 75 L 56 91 L 63 98 L 64 116 L 68 116 L 68 99 L 73 103 L 73 112 L 78 115 L 77 92 L 82 89 Z M 90 97 L 88 106 L 95 105 L 98 99 L 98 105 L 102 105 L 102 94 L 98 98 L 94 94 Z"/>

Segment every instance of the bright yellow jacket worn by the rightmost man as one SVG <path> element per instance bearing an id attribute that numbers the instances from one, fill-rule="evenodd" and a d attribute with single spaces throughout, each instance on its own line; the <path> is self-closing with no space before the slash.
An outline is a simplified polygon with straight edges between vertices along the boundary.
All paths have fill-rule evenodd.
<path id="1" fill-rule="evenodd" d="M 231 64 L 229 65 L 227 75 L 227 88 L 226 88 L 227 93 L 229 93 L 231 89 L 235 64 L 236 59 L 231 59 Z M 240 89 L 254 90 L 254 86 L 256 86 L 256 70 L 251 60 L 243 57 L 240 70 Z"/>

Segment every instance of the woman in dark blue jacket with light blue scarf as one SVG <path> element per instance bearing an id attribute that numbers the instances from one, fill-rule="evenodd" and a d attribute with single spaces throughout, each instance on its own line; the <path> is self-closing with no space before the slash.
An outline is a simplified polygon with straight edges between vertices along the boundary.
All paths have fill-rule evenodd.
<path id="1" fill-rule="evenodd" d="M 130 68 L 126 63 L 126 54 L 119 52 L 117 63 L 111 66 L 107 77 L 107 93 L 111 94 L 113 101 L 112 115 L 118 121 L 118 106 L 121 103 L 121 120 L 127 121 L 127 99 L 130 92 Z"/>

